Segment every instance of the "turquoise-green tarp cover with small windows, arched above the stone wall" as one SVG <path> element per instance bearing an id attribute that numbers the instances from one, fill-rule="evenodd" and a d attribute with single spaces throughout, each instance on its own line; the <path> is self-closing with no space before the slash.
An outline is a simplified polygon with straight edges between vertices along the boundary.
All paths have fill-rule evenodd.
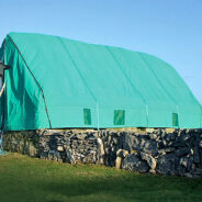
<path id="1" fill-rule="evenodd" d="M 201 105 L 167 63 L 58 36 L 10 33 L 1 47 L 5 131 L 201 127 Z"/>

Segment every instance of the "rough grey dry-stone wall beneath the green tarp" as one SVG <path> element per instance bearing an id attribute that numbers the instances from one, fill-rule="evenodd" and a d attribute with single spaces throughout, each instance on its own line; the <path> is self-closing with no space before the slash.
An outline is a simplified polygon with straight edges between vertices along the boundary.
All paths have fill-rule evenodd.
<path id="1" fill-rule="evenodd" d="M 40 130 L 8 132 L 3 147 L 69 164 L 103 164 L 131 171 L 202 176 L 202 130 Z"/>

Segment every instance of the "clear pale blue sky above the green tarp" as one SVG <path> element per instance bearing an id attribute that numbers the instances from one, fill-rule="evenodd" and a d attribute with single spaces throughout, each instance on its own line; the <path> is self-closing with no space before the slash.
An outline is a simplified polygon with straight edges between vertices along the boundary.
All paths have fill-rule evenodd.
<path id="1" fill-rule="evenodd" d="M 0 0 L 0 42 L 12 31 L 153 54 L 202 103 L 202 0 Z"/>

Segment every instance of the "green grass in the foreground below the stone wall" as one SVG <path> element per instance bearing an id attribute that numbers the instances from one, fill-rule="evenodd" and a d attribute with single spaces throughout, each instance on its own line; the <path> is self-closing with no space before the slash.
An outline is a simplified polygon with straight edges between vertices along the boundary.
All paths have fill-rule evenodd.
<path id="1" fill-rule="evenodd" d="M 70 166 L 19 154 L 0 157 L 0 202 L 202 201 L 202 179 Z"/>

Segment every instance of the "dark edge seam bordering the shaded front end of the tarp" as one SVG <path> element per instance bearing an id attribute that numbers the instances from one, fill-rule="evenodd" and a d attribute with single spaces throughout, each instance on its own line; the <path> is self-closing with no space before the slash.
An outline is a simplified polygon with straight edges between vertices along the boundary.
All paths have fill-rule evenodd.
<path id="1" fill-rule="evenodd" d="M 14 47 L 16 48 L 18 53 L 20 54 L 21 58 L 23 59 L 26 68 L 29 69 L 30 74 L 32 75 L 33 79 L 35 80 L 37 87 L 40 88 L 41 92 L 42 92 L 42 98 L 44 100 L 44 105 L 45 105 L 45 111 L 46 111 L 46 115 L 47 115 L 47 120 L 48 120 L 48 123 L 49 123 L 49 127 L 52 128 L 52 122 L 50 122 L 50 117 L 49 117 L 49 114 L 48 114 L 48 110 L 47 110 L 47 104 L 46 104 L 46 100 L 45 100 L 45 96 L 44 96 L 44 92 L 43 92 L 43 89 L 42 87 L 40 86 L 38 81 L 36 80 L 36 78 L 34 77 L 34 74 L 32 72 L 32 70 L 30 69 L 29 65 L 26 64 L 26 60 L 24 59 L 22 53 L 20 52 L 19 47 L 16 46 L 16 44 L 14 43 L 14 41 L 12 40 L 12 37 L 10 35 L 8 35 L 9 40 L 11 41 L 11 43 L 14 45 Z"/>

